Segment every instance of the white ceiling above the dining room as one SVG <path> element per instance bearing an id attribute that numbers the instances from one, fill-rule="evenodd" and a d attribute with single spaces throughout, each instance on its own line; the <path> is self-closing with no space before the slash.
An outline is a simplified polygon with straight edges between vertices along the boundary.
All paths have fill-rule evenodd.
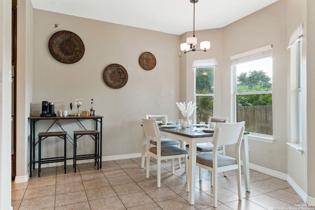
<path id="1" fill-rule="evenodd" d="M 195 30 L 227 26 L 277 0 L 199 0 Z M 33 8 L 181 35 L 193 30 L 190 0 L 32 0 Z"/>

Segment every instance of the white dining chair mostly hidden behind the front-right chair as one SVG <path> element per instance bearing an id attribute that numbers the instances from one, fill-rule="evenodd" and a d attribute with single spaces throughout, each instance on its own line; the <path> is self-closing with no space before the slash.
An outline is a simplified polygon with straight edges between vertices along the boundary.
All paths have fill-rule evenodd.
<path id="1" fill-rule="evenodd" d="M 210 116 L 208 119 L 208 123 L 209 122 L 228 122 L 228 118 L 227 117 L 213 117 Z M 189 145 L 186 145 L 186 148 L 189 149 Z M 213 144 L 211 142 L 205 142 L 205 143 L 198 143 L 196 144 L 196 148 L 197 148 L 197 153 L 205 153 L 205 152 L 212 152 L 213 151 Z M 225 155 L 225 147 L 224 146 L 219 146 L 219 153 Z M 225 174 L 224 174 L 225 176 Z M 199 168 L 199 180 L 202 180 L 202 169 Z M 212 173 L 210 173 L 210 180 L 211 180 L 211 186 L 213 184 L 212 181 Z"/>

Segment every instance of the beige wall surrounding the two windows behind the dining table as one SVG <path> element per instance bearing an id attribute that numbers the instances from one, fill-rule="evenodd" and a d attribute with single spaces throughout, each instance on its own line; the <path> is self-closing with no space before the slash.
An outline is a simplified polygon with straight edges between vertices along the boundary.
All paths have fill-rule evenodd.
<path id="1" fill-rule="evenodd" d="M 196 31 L 196 37 L 210 40 L 209 52 L 195 52 L 186 56 L 187 97 L 193 96 L 193 60 L 217 59 L 215 69 L 215 115 L 232 119 L 230 56 L 273 45 L 273 136 L 274 144 L 249 141 L 250 162 L 275 171 L 286 173 L 286 1 L 280 0 L 222 29 Z M 182 35 L 186 37 L 186 34 Z M 200 37 L 201 36 L 201 37 Z M 200 37 L 200 38 L 199 38 Z M 183 70 L 184 68 L 184 70 Z M 277 161 L 275 161 L 277 159 Z"/>

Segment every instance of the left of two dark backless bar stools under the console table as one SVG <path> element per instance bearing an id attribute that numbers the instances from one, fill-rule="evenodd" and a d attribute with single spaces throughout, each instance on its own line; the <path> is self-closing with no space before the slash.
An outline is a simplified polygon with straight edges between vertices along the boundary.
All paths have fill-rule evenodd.
<path id="1" fill-rule="evenodd" d="M 56 136 L 64 141 L 64 153 L 62 157 L 49 157 L 49 158 L 41 158 L 41 142 L 48 138 Z M 66 174 L 66 138 L 67 138 L 67 132 L 41 132 L 38 133 L 38 177 L 40 177 L 40 170 L 41 170 L 41 164 L 44 163 L 56 163 L 56 162 L 63 162 L 64 163 L 64 173 Z"/>

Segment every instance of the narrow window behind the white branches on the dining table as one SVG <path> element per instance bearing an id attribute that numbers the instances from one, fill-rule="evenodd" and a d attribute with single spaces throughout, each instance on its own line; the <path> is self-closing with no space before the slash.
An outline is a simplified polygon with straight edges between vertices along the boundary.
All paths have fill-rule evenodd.
<path id="1" fill-rule="evenodd" d="M 213 116 L 213 103 L 215 91 L 215 63 L 216 60 L 194 61 L 195 73 L 195 102 L 197 109 L 195 112 L 196 122 L 207 122 Z"/>

